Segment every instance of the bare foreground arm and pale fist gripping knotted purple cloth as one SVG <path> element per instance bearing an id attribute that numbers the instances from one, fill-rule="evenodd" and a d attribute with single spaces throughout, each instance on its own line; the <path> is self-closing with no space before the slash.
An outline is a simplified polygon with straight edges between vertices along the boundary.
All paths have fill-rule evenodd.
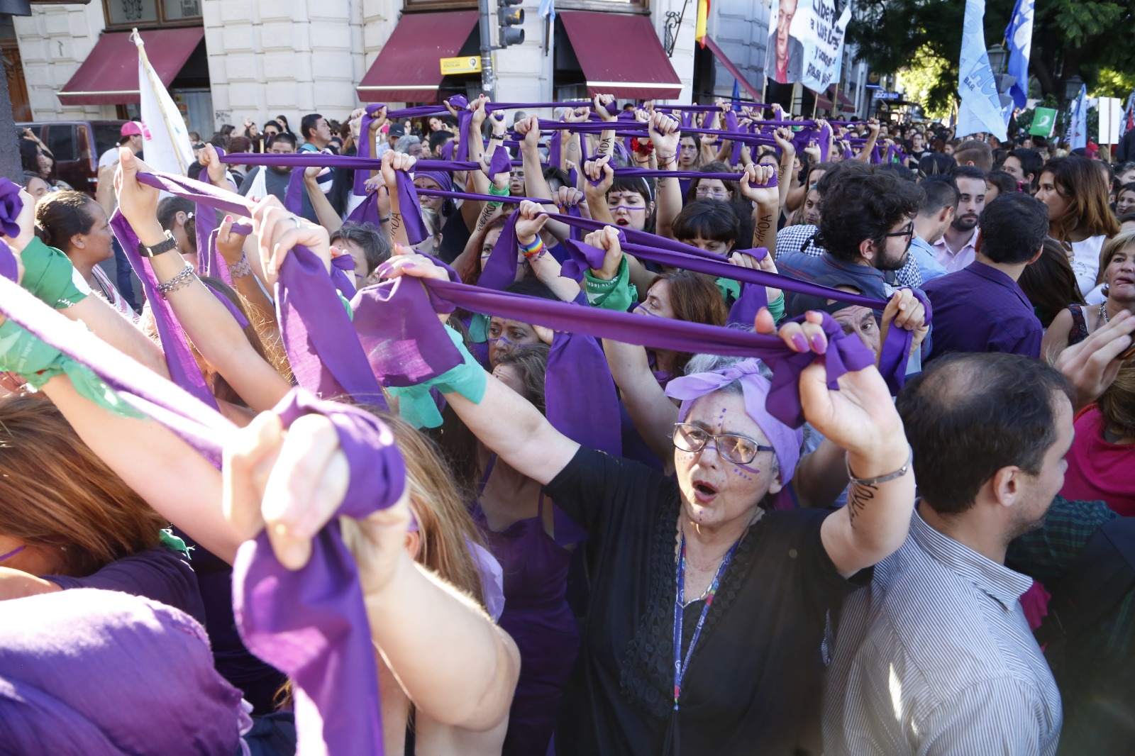
<path id="1" fill-rule="evenodd" d="M 310 539 L 334 516 L 351 476 L 335 428 L 321 415 L 300 418 L 287 431 L 275 415 L 259 417 L 226 448 L 226 511 L 246 537 L 267 526 L 291 569 L 306 563 Z M 520 654 L 480 607 L 411 558 L 407 501 L 365 520 L 339 519 L 371 639 L 423 714 L 489 730 L 508 714 Z"/>

